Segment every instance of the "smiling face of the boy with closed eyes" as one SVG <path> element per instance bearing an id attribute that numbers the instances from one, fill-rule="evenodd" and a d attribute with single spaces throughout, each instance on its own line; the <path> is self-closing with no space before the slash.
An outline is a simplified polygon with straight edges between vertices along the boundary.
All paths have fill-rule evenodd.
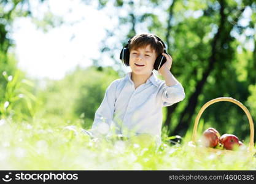
<path id="1" fill-rule="evenodd" d="M 137 50 L 132 49 L 129 60 L 131 71 L 138 75 L 150 75 L 153 71 L 155 59 L 157 59 L 157 53 L 150 45 Z"/>

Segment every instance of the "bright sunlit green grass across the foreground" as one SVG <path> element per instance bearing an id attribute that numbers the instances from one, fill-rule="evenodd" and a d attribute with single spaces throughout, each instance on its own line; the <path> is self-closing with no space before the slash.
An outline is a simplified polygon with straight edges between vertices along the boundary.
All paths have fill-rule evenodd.
<path id="1" fill-rule="evenodd" d="M 37 121 L 37 120 L 36 120 Z M 35 122 L 36 122 L 35 121 Z M 0 169 L 4 170 L 255 170 L 245 151 L 220 154 L 161 144 L 147 138 L 90 139 L 65 123 L 0 120 Z M 52 126 L 52 125 L 55 126 Z"/>

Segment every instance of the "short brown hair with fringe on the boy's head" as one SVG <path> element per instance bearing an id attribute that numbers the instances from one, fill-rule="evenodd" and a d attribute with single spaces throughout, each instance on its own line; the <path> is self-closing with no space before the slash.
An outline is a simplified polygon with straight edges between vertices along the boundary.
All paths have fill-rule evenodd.
<path id="1" fill-rule="evenodd" d="M 163 44 L 155 37 L 155 35 L 150 33 L 137 34 L 134 36 L 130 44 L 128 44 L 129 50 L 137 50 L 138 48 L 144 48 L 150 45 L 150 47 L 155 50 L 155 53 L 161 55 L 163 53 Z"/>

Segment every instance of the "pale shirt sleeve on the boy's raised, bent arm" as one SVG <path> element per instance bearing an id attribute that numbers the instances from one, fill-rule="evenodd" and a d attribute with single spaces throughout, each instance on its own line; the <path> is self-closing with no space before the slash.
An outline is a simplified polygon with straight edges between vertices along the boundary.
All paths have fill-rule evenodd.
<path id="1" fill-rule="evenodd" d="M 173 86 L 167 86 L 164 84 L 161 93 L 164 107 L 173 105 L 185 98 L 184 88 L 180 83 Z"/>

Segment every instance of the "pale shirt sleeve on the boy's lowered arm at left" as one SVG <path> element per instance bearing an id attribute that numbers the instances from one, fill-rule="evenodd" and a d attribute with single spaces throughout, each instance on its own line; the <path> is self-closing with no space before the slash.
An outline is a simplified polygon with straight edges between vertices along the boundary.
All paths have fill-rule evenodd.
<path id="1" fill-rule="evenodd" d="M 95 119 L 91 127 L 91 132 L 94 136 L 97 136 L 99 134 L 107 134 L 109 132 L 114 117 L 116 101 L 115 91 L 116 82 L 114 81 L 111 83 L 111 85 L 107 87 L 103 101 L 95 112 Z"/>

